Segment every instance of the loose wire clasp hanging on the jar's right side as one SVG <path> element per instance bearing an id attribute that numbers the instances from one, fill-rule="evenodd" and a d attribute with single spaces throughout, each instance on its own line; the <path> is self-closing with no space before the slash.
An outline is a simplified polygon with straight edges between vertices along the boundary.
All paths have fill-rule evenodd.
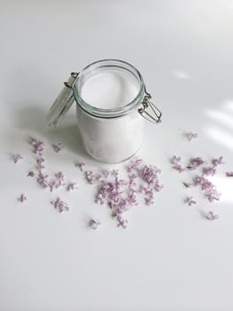
<path id="1" fill-rule="evenodd" d="M 138 108 L 137 110 L 141 116 L 143 116 L 146 120 L 152 122 L 153 124 L 158 124 L 159 122 L 161 122 L 162 113 L 159 108 L 157 108 L 151 101 L 151 94 L 146 91 L 142 105 L 143 107 Z M 151 108 L 151 112 L 153 115 L 146 111 L 148 108 Z"/>

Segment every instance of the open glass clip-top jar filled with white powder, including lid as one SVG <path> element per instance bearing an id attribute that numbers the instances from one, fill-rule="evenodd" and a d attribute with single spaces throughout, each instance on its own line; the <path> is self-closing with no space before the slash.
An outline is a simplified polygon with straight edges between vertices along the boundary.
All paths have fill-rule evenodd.
<path id="1" fill-rule="evenodd" d="M 161 119 L 140 72 L 122 60 L 98 60 L 73 72 L 50 108 L 48 123 L 58 124 L 74 101 L 83 146 L 100 162 L 134 156 L 142 145 L 144 119 Z"/>

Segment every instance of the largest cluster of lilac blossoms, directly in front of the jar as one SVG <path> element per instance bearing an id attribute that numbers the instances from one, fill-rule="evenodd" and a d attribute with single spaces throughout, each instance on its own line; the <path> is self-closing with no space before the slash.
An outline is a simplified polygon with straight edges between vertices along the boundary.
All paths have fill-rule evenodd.
<path id="1" fill-rule="evenodd" d="M 127 171 L 128 179 L 120 179 L 119 171 L 116 170 L 105 170 L 97 174 L 85 171 L 88 183 L 97 184 L 96 202 L 106 203 L 117 226 L 123 228 L 128 226 L 125 212 L 138 204 L 137 196 L 144 195 L 144 202 L 152 204 L 154 192 L 163 187 L 159 184 L 160 170 L 152 165 L 143 165 L 143 160 L 138 157 L 128 163 Z"/>

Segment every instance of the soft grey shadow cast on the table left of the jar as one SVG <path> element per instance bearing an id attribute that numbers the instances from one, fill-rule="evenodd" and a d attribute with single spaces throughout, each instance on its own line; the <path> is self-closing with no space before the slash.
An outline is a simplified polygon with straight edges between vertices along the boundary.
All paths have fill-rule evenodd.
<path id="1" fill-rule="evenodd" d="M 72 112 L 74 111 L 71 111 L 58 126 L 49 127 L 46 121 L 48 111 L 38 107 L 25 107 L 16 112 L 15 124 L 20 130 L 27 131 L 37 139 L 48 140 L 50 144 L 60 142 L 76 156 L 91 159 L 83 147 L 76 116 Z"/>

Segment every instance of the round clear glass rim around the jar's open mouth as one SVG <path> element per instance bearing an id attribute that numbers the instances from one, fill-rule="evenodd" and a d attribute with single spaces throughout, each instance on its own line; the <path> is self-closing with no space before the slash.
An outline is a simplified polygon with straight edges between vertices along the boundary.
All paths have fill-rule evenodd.
<path id="1" fill-rule="evenodd" d="M 82 78 L 83 76 L 89 74 L 90 72 L 93 73 L 94 70 L 97 70 L 97 68 L 102 69 L 118 68 L 119 70 L 123 69 L 125 71 L 128 71 L 128 73 L 131 74 L 132 76 L 135 76 L 138 82 L 138 92 L 134 100 L 131 100 L 126 105 L 121 106 L 119 108 L 111 108 L 111 109 L 97 108 L 89 105 L 88 102 L 83 100 L 80 92 L 81 91 L 80 84 Z M 133 65 L 129 64 L 127 61 L 124 60 L 106 59 L 106 60 L 97 60 L 95 62 L 92 62 L 85 68 L 83 68 L 82 71 L 77 76 L 73 91 L 74 91 L 74 100 L 76 101 L 77 105 L 84 111 L 86 111 L 89 115 L 110 118 L 122 116 L 135 110 L 140 105 L 141 101 L 144 98 L 145 87 L 143 76 L 140 74 L 139 70 L 136 69 Z"/>

